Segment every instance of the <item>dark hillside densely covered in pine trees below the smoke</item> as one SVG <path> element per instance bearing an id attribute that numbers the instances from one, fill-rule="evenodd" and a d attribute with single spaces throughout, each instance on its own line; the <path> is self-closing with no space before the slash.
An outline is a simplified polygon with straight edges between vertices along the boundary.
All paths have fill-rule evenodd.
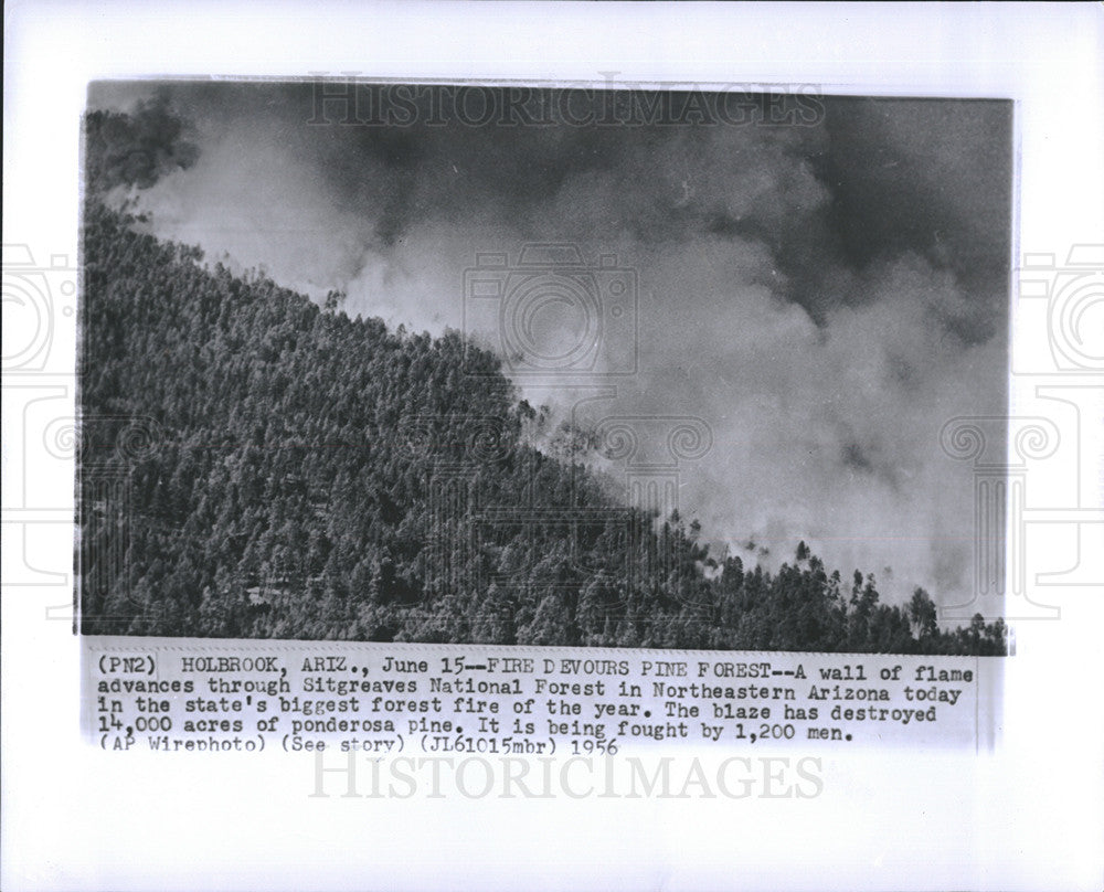
<path id="1" fill-rule="evenodd" d="M 85 633 L 1005 652 L 999 620 L 941 630 L 924 592 L 888 606 L 804 544 L 777 574 L 718 565 L 694 524 L 529 445 L 492 354 L 135 224 L 87 204 Z"/>

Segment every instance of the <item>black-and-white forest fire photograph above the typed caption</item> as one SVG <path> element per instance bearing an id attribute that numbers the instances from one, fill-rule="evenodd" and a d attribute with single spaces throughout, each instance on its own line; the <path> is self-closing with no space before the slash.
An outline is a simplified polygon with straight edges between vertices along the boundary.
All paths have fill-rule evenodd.
<path id="1" fill-rule="evenodd" d="M 1010 102 L 98 81 L 83 195 L 83 634 L 1008 651 Z"/>

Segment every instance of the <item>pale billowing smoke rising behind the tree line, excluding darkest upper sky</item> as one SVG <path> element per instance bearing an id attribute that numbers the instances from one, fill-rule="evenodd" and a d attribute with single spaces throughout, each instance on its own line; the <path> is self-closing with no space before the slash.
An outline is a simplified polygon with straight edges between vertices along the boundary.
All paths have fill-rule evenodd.
<path id="1" fill-rule="evenodd" d="M 821 130 L 627 132 L 612 161 L 532 194 L 498 183 L 520 174 L 467 145 L 431 145 L 411 173 L 333 128 L 191 112 L 199 162 L 141 199 L 158 234 L 316 298 L 344 289 L 350 315 L 433 333 L 460 328 L 479 251 L 567 241 L 588 258 L 615 253 L 638 275 L 639 374 L 580 420 L 702 418 L 713 445 L 680 468 L 680 508 L 745 560 L 749 541 L 775 566 L 804 539 L 845 574 L 891 566 L 891 601 L 914 585 L 948 603 L 968 594 L 973 485 L 938 433 L 1002 410 L 1004 348 L 956 336 L 975 296 L 910 252 L 859 270 L 815 251 L 822 318 L 793 299 L 772 233 L 829 241 L 832 195 L 808 160 Z M 567 384 L 524 393 L 560 417 L 575 399 Z"/>

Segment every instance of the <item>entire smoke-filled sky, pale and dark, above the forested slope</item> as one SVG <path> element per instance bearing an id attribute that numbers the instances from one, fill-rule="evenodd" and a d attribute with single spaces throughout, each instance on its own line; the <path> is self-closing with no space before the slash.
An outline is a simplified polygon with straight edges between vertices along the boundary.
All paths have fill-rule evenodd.
<path id="1" fill-rule="evenodd" d="M 890 601 L 916 584 L 966 599 L 973 482 L 938 434 L 1006 411 L 1010 104 L 814 96 L 779 124 L 474 126 L 485 95 L 438 123 L 424 93 L 388 127 L 337 123 L 340 102 L 317 123 L 309 84 L 100 84 L 91 106 L 156 89 L 200 150 L 141 194 L 158 234 L 434 333 L 461 327 L 477 252 L 614 254 L 637 276 L 639 372 L 586 417 L 709 425 L 679 492 L 707 539 L 772 566 L 805 539 Z M 526 393 L 566 416 L 577 391 Z"/>

